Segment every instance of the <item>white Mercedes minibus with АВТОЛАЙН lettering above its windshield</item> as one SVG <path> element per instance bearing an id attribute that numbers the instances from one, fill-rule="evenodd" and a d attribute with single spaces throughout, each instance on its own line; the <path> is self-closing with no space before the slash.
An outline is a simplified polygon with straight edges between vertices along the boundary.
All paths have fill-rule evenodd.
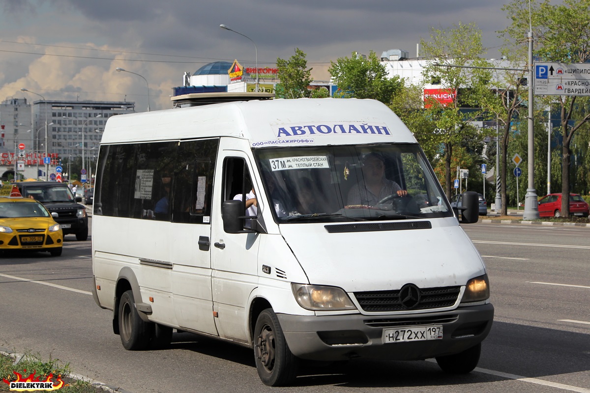
<path id="1" fill-rule="evenodd" d="M 173 329 L 253 349 L 266 385 L 297 366 L 435 358 L 472 371 L 486 266 L 411 131 L 374 100 L 250 100 L 117 115 L 100 143 L 97 304 L 124 348 Z"/>

